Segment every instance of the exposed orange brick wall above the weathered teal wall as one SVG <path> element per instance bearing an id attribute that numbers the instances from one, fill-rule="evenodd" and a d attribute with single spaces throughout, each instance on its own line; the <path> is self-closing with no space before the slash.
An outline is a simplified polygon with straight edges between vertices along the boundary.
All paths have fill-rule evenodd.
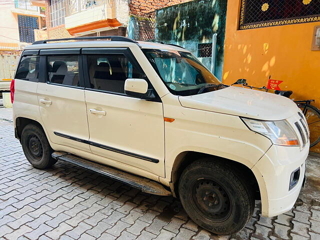
<path id="1" fill-rule="evenodd" d="M 130 14 L 142 14 L 158 8 L 183 3 L 186 1 L 190 0 L 131 0 L 129 2 Z"/>

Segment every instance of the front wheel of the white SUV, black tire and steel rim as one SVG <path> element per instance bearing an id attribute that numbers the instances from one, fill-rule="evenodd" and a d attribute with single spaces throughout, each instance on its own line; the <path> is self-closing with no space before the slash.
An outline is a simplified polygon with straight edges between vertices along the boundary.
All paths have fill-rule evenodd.
<path id="1" fill-rule="evenodd" d="M 191 163 L 183 170 L 178 189 L 190 218 L 216 234 L 241 230 L 253 214 L 252 190 L 223 162 L 203 158 Z"/>

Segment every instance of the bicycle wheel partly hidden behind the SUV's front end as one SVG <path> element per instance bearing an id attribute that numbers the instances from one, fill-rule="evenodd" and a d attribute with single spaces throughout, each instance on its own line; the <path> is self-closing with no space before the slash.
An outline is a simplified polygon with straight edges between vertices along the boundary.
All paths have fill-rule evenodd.
<path id="1" fill-rule="evenodd" d="M 298 103 L 298 107 L 308 123 L 310 130 L 310 147 L 315 146 L 320 142 L 320 110 L 310 104 Z"/>

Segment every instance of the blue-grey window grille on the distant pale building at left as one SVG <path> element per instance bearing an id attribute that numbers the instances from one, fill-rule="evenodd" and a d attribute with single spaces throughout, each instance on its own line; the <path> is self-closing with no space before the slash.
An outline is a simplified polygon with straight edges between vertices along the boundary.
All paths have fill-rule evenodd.
<path id="1" fill-rule="evenodd" d="M 21 42 L 33 42 L 34 29 L 39 29 L 38 18 L 18 14 L 18 28 Z"/>

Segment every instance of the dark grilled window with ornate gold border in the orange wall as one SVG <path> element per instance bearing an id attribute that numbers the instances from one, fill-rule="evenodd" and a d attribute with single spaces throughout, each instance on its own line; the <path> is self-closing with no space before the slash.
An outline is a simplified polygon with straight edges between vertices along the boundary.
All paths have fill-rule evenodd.
<path id="1" fill-rule="evenodd" d="M 320 21 L 319 0 L 242 0 L 239 29 Z"/>

